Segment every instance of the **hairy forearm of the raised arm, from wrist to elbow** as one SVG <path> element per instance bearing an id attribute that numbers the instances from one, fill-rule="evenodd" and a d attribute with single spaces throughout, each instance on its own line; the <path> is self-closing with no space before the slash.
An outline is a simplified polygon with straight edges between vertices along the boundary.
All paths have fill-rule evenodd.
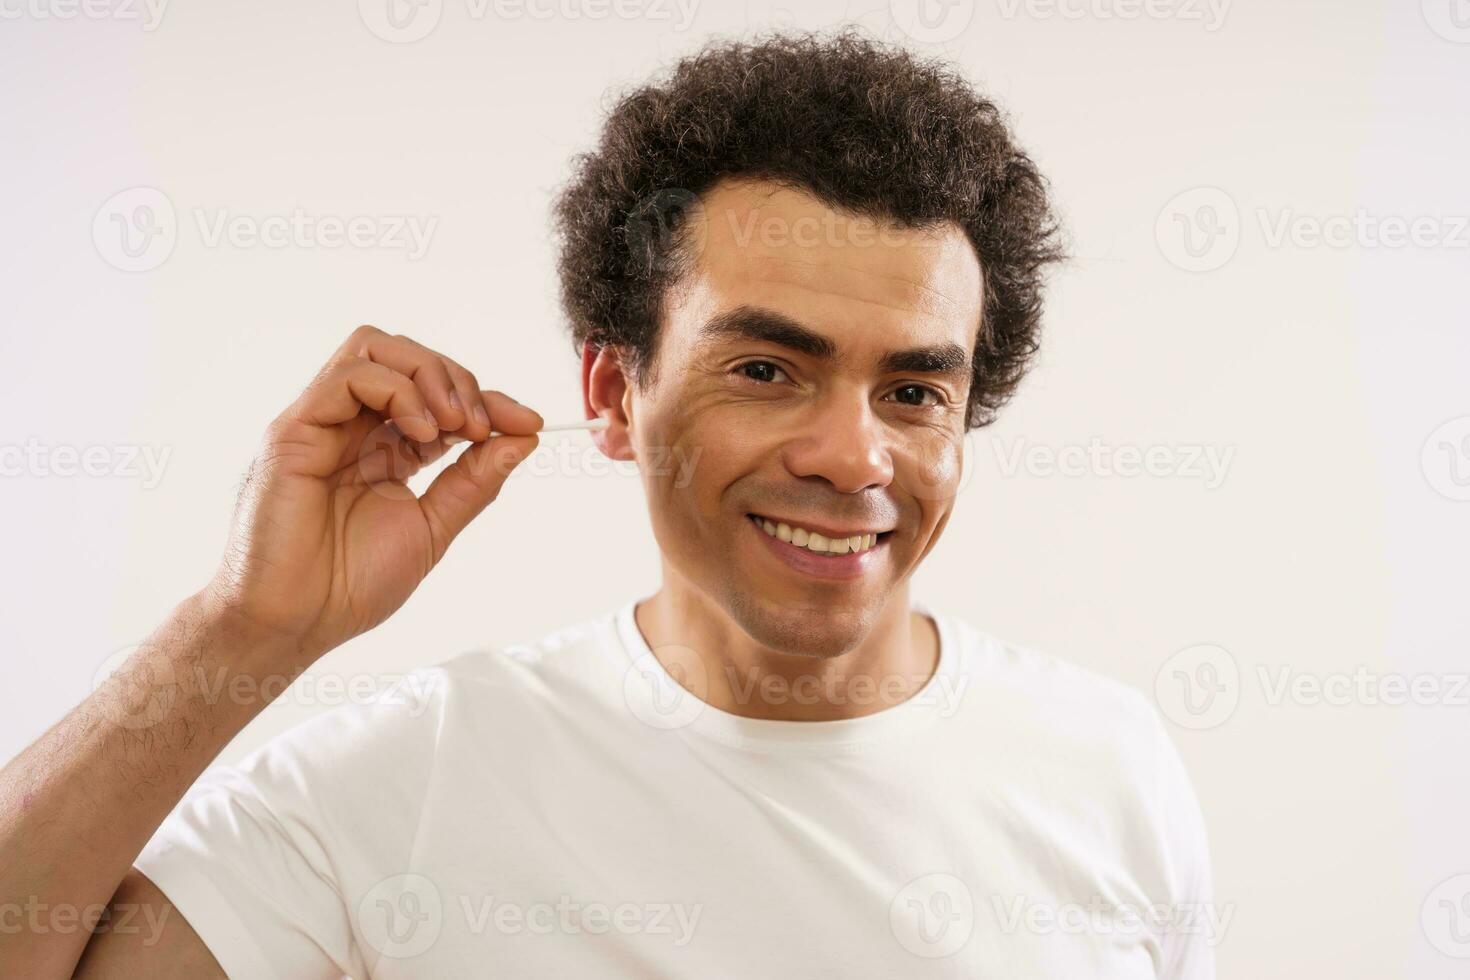
<path id="1" fill-rule="evenodd" d="M 259 692 L 279 692 L 262 680 L 288 645 L 190 597 L 0 770 L 0 948 L 16 976 L 71 976 L 148 837 L 265 707 Z"/>

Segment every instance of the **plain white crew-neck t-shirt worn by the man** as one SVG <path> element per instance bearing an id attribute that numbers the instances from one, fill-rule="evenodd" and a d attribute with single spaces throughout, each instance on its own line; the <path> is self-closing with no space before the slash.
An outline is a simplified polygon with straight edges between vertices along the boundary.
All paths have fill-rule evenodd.
<path id="1" fill-rule="evenodd" d="M 1214 976 L 1204 823 L 1132 688 L 913 602 L 917 695 L 745 718 L 634 605 L 209 770 L 137 867 L 231 977 Z"/>

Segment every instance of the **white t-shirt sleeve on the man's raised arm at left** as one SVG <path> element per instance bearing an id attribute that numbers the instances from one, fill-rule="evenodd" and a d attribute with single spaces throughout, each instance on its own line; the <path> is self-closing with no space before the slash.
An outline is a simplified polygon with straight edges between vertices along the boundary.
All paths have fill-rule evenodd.
<path id="1" fill-rule="evenodd" d="M 412 855 L 440 680 L 413 671 L 207 770 L 144 846 L 134 865 L 229 977 L 369 976 L 353 896 Z"/>

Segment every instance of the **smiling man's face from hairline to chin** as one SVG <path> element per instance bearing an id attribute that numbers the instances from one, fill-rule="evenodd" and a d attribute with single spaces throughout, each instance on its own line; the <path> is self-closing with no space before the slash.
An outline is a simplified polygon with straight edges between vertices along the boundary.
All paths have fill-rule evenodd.
<path id="1" fill-rule="evenodd" d="M 761 645 L 838 655 L 953 508 L 979 260 L 958 226 L 900 229 L 770 182 L 703 201 L 654 381 L 626 395 L 654 535 Z M 833 532 L 860 550 L 833 554 Z"/>

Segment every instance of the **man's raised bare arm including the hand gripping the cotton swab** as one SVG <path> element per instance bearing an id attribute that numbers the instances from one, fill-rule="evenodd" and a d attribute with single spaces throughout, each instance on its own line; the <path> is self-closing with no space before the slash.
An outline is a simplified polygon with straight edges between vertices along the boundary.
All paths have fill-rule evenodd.
<path id="1" fill-rule="evenodd" d="M 490 438 L 491 425 L 516 435 Z M 131 871 L 266 704 L 219 692 L 279 692 L 388 619 L 531 454 L 541 425 L 435 351 L 353 332 L 270 423 L 210 585 L 0 770 L 6 976 L 222 976 L 163 893 Z M 476 445 L 415 497 L 407 478 L 448 438 Z M 250 683 L 229 685 L 237 676 Z"/>

